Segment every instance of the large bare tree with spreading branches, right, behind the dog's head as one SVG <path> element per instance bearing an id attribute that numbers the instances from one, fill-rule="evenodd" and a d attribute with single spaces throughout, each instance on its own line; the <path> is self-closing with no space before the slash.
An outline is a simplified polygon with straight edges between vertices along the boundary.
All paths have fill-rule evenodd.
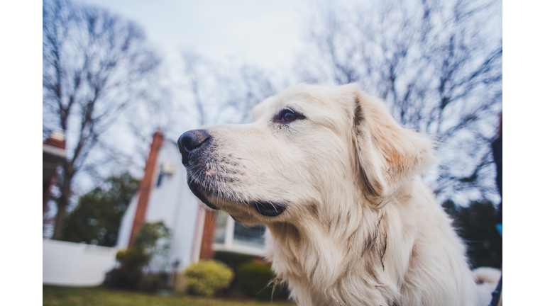
<path id="1" fill-rule="evenodd" d="M 404 128 L 436 135 L 439 200 L 497 198 L 490 142 L 502 108 L 501 4 L 388 0 L 322 8 L 297 72 L 313 83 L 358 82 Z"/>

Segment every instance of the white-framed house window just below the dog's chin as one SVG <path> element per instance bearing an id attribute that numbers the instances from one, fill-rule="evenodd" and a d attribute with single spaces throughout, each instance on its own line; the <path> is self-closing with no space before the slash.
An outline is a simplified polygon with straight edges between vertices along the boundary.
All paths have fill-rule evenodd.
<path id="1" fill-rule="evenodd" d="M 265 245 L 264 225 L 240 225 L 224 211 L 219 211 L 214 232 L 214 249 L 261 255 Z"/>

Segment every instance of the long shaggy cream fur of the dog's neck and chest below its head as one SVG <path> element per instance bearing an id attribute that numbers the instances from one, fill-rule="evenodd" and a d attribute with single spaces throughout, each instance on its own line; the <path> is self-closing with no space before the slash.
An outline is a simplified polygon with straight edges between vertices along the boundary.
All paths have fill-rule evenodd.
<path id="1" fill-rule="evenodd" d="M 345 199 L 354 205 L 319 205 L 336 210 L 334 214 L 323 214 L 316 206 L 309 205 L 309 213 L 297 224 L 268 225 L 272 236 L 268 242 L 272 268 L 287 280 L 299 305 L 471 305 L 473 279 L 466 261 L 461 260 L 465 259 L 463 243 L 450 226 L 442 227 L 446 229 L 444 232 L 432 233 L 427 232 L 424 223 L 407 223 L 407 220 L 422 220 L 418 214 L 426 210 L 441 210 L 420 179 L 407 185 L 411 186 L 401 188 L 380 209 L 365 203 L 362 197 Z M 397 201 L 402 198 L 404 201 Z M 408 205 L 407 198 L 413 203 Z M 392 209 L 393 205 L 398 205 L 397 209 Z M 351 210 L 342 211 L 339 206 Z M 324 215 L 334 215 L 336 219 L 326 220 Z M 442 210 L 441 216 L 443 220 L 437 222 L 450 222 Z M 392 237 L 402 238 L 392 241 Z M 419 244 L 418 254 L 413 253 L 415 244 Z M 434 253 L 428 254 L 426 248 L 441 244 L 456 245 L 459 254 L 444 254 L 440 261 L 429 258 Z M 389 263 L 393 261 L 397 264 Z M 445 265 L 445 261 L 451 263 Z M 458 269 L 451 271 L 448 269 L 451 266 Z M 392 267 L 398 270 L 393 271 Z M 445 277 L 434 279 L 433 288 L 414 282 L 422 275 L 436 276 L 437 273 L 429 272 L 433 269 L 444 270 L 442 276 L 463 274 L 466 285 Z M 417 273 L 420 278 L 414 277 Z M 415 292 L 441 300 L 415 300 L 415 296 L 423 296 Z M 460 300 L 461 297 L 466 300 Z"/>

